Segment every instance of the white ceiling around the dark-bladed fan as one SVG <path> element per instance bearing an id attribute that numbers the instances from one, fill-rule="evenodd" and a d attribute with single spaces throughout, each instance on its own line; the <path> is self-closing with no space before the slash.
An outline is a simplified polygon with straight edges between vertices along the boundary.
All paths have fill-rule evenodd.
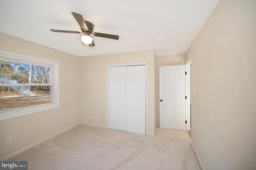
<path id="1" fill-rule="evenodd" d="M 0 0 L 0 32 L 77 56 L 154 49 L 156 55 L 184 53 L 219 0 Z M 71 12 L 94 24 L 94 32 L 119 40 L 92 38 L 82 45 Z M 157 40 L 162 38 L 162 40 Z"/>

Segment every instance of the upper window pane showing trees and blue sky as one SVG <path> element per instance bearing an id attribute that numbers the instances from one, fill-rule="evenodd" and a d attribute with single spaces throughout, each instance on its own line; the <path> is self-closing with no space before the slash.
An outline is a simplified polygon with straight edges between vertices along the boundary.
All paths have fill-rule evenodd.
<path id="1" fill-rule="evenodd" d="M 51 67 L 0 60 L 1 83 L 51 83 Z"/>

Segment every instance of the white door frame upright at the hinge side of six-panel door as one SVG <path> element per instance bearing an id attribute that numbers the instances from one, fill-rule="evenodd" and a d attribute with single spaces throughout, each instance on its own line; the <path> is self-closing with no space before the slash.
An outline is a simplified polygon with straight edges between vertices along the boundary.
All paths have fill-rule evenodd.
<path id="1" fill-rule="evenodd" d="M 191 61 L 189 61 L 188 63 L 186 63 L 185 65 L 185 71 L 187 72 L 186 76 L 185 76 L 185 94 L 186 94 L 186 109 L 185 109 L 185 120 L 187 121 L 187 123 L 185 124 L 185 129 L 188 131 L 191 131 L 190 127 L 190 65 L 191 65 Z"/>

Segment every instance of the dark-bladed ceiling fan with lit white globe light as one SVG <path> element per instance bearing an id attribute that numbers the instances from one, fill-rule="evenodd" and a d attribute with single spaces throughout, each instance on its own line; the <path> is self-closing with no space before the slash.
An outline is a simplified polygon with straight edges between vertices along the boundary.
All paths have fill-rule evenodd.
<path id="1" fill-rule="evenodd" d="M 93 32 L 94 25 L 91 22 L 85 21 L 83 16 L 80 14 L 77 14 L 75 12 L 71 12 L 78 24 L 80 25 L 81 31 L 66 31 L 66 30 L 52 30 L 52 32 L 66 32 L 66 33 L 76 33 L 76 34 L 81 34 L 84 33 L 84 36 L 81 37 L 82 39 L 82 44 L 88 44 L 90 47 L 95 46 L 92 37 L 90 34 L 93 34 L 96 37 L 103 37 L 103 38 L 110 38 L 114 40 L 118 40 L 119 36 L 112 35 L 112 34 L 103 34 L 103 33 L 98 33 L 98 32 Z"/>

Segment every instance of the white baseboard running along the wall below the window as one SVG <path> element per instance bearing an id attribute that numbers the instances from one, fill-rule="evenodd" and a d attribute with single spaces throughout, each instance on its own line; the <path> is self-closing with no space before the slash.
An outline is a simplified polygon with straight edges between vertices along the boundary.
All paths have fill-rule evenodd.
<path id="1" fill-rule="evenodd" d="M 38 140 L 37 142 L 34 142 L 34 143 L 32 143 L 32 144 L 30 144 L 30 145 L 28 145 L 28 146 L 25 146 L 25 147 L 23 147 L 23 148 L 20 148 L 19 150 L 16 150 L 16 151 L 14 151 L 14 152 L 12 152 L 12 153 L 6 155 L 6 156 L 3 156 L 2 158 L 0 158 L 0 160 L 9 159 L 9 158 L 11 158 L 12 156 L 15 156 L 15 155 L 17 155 L 17 154 L 20 154 L 21 152 L 24 152 L 25 150 L 28 150 L 28 149 L 33 148 L 33 147 L 35 147 L 35 146 L 38 146 L 39 144 L 43 143 L 44 141 L 49 140 L 49 139 L 51 139 L 51 138 L 53 138 L 53 137 L 55 137 L 55 136 L 57 136 L 57 135 L 59 135 L 59 134 L 61 134 L 61 133 L 63 133 L 63 132 L 66 132 L 66 131 L 68 131 L 68 130 L 70 130 L 70 129 L 76 127 L 76 126 L 78 126 L 78 125 L 80 125 L 80 123 L 76 123 L 76 124 L 74 124 L 74 125 L 72 125 L 72 126 L 70 126 L 70 127 L 64 128 L 64 129 L 62 129 L 62 130 L 60 130 L 60 131 L 58 131 L 58 132 L 56 132 L 56 133 L 54 133 L 54 134 L 52 134 L 52 135 L 50 135 L 50 136 L 47 136 L 47 137 L 45 137 L 45 138 L 43 138 L 43 139 L 41 139 L 41 140 Z"/>

